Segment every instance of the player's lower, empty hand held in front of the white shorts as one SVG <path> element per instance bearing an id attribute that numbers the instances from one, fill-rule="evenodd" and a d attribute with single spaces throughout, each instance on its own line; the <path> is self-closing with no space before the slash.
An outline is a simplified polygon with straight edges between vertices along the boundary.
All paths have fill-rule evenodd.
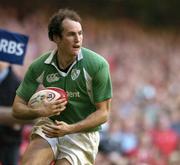
<path id="1" fill-rule="evenodd" d="M 69 134 L 71 131 L 71 125 L 63 121 L 55 121 L 54 124 L 45 124 L 42 126 L 43 133 L 49 137 L 60 137 Z"/>

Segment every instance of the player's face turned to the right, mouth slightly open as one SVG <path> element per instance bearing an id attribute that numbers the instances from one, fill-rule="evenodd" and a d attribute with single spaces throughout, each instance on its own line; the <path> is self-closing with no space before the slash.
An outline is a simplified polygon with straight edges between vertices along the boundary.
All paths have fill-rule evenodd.
<path id="1" fill-rule="evenodd" d="M 58 49 L 63 55 L 76 56 L 82 46 L 82 26 L 79 22 L 65 19 L 62 23 L 62 38 L 58 43 Z"/>

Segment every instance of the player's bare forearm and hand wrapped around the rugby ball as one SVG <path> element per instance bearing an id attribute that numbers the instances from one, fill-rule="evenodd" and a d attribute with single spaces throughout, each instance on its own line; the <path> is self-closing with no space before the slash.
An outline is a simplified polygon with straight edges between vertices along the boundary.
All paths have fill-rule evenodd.
<path id="1" fill-rule="evenodd" d="M 28 103 L 17 96 L 13 103 L 13 116 L 17 119 L 32 120 L 38 117 L 49 117 L 60 114 L 65 109 L 66 101 L 59 99 L 53 102 L 44 100 L 43 104 L 37 108 L 28 106 Z"/>

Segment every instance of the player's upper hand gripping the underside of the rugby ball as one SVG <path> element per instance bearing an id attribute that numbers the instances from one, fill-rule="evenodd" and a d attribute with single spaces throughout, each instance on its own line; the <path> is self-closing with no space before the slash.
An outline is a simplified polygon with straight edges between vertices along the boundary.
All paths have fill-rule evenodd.
<path id="1" fill-rule="evenodd" d="M 60 115 L 60 113 L 66 109 L 66 104 L 67 101 L 64 98 L 53 102 L 48 102 L 44 99 L 41 106 L 35 110 L 38 111 L 40 117 L 50 117 Z"/>

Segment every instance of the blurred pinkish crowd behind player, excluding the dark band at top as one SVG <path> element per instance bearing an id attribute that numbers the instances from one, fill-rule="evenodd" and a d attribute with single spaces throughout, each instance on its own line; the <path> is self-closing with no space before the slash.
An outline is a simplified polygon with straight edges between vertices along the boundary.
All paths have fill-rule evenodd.
<path id="1" fill-rule="evenodd" d="M 22 78 L 33 59 L 53 48 L 46 11 L 19 18 L 0 8 L 0 28 L 29 35 Z M 110 63 L 112 113 L 101 130 L 96 165 L 180 164 L 180 33 L 130 20 L 83 20 L 84 46 Z M 31 127 L 24 129 L 23 154 Z"/>

